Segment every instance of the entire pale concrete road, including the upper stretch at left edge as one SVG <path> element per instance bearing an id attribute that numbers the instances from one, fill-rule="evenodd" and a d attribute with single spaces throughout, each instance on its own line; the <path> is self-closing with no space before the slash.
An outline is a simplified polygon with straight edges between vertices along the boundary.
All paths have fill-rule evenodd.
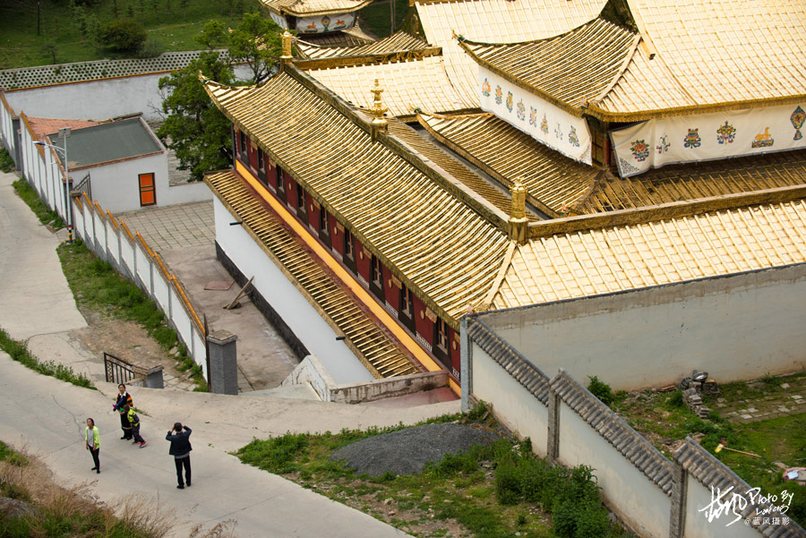
<path id="1" fill-rule="evenodd" d="M 86 360 L 64 335 L 83 326 L 56 257 L 58 240 L 39 225 L 13 193 L 13 175 L 0 175 L 0 327 L 29 343 L 47 339 L 42 358 Z M 405 409 L 344 406 L 271 397 L 227 397 L 172 390 L 137 389 L 143 411 L 137 448 L 120 440 L 111 414 L 115 387 L 74 387 L 39 376 L 0 352 L 0 440 L 27 445 L 65 486 L 91 482 L 90 491 L 110 506 L 141 493 L 160 507 L 175 509 L 187 536 L 193 525 L 207 527 L 234 519 L 236 535 L 247 537 L 345 536 L 383 538 L 405 534 L 373 517 L 300 488 L 293 482 L 241 465 L 229 452 L 254 437 L 286 431 L 339 431 L 376 425 L 416 423 L 459 411 L 459 402 Z M 91 416 L 101 431 L 101 474 L 90 472 L 83 448 L 83 423 Z M 174 463 L 165 431 L 176 421 L 193 428 L 193 487 L 176 490 Z"/>

